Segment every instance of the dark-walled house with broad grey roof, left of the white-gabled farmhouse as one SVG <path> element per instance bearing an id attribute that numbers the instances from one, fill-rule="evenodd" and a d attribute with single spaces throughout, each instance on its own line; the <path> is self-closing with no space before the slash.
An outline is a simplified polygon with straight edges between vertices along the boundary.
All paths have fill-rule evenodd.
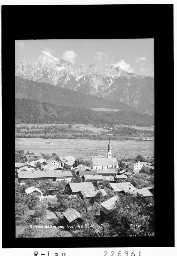
<path id="1" fill-rule="evenodd" d="M 69 195 L 77 195 L 79 197 L 80 191 L 95 191 L 95 187 L 92 182 L 78 182 L 78 183 L 68 183 L 65 186 L 68 190 Z"/>

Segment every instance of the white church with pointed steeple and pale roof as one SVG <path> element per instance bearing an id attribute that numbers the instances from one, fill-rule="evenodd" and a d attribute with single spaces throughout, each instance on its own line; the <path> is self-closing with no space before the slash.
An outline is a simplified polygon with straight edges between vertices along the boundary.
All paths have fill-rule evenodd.
<path id="1" fill-rule="evenodd" d="M 110 139 L 108 144 L 107 157 L 92 158 L 90 162 L 92 169 L 107 169 L 109 167 L 118 168 L 118 161 L 115 157 L 112 158 L 112 151 L 110 146 Z"/>

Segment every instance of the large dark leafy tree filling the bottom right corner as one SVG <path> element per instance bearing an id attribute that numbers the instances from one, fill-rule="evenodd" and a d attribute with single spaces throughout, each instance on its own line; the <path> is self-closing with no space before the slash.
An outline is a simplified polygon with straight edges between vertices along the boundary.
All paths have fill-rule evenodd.
<path id="1" fill-rule="evenodd" d="M 121 195 L 105 217 L 107 236 L 154 236 L 154 205 L 150 201 L 139 194 Z"/>

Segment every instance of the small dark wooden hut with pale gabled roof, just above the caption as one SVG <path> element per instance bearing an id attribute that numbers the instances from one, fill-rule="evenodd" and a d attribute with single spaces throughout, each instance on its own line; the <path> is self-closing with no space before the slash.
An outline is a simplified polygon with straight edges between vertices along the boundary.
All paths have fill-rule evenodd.
<path id="1" fill-rule="evenodd" d="M 74 226 L 74 224 L 78 222 L 82 222 L 81 214 L 80 212 L 76 211 L 75 209 L 69 207 L 65 212 L 63 213 L 63 222 L 65 225 Z"/>

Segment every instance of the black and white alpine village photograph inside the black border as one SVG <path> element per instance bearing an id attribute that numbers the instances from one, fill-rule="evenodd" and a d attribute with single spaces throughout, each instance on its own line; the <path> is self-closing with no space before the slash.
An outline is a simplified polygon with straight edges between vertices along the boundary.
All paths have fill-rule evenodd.
<path id="1" fill-rule="evenodd" d="M 15 44 L 16 238 L 154 236 L 154 39 Z"/>

